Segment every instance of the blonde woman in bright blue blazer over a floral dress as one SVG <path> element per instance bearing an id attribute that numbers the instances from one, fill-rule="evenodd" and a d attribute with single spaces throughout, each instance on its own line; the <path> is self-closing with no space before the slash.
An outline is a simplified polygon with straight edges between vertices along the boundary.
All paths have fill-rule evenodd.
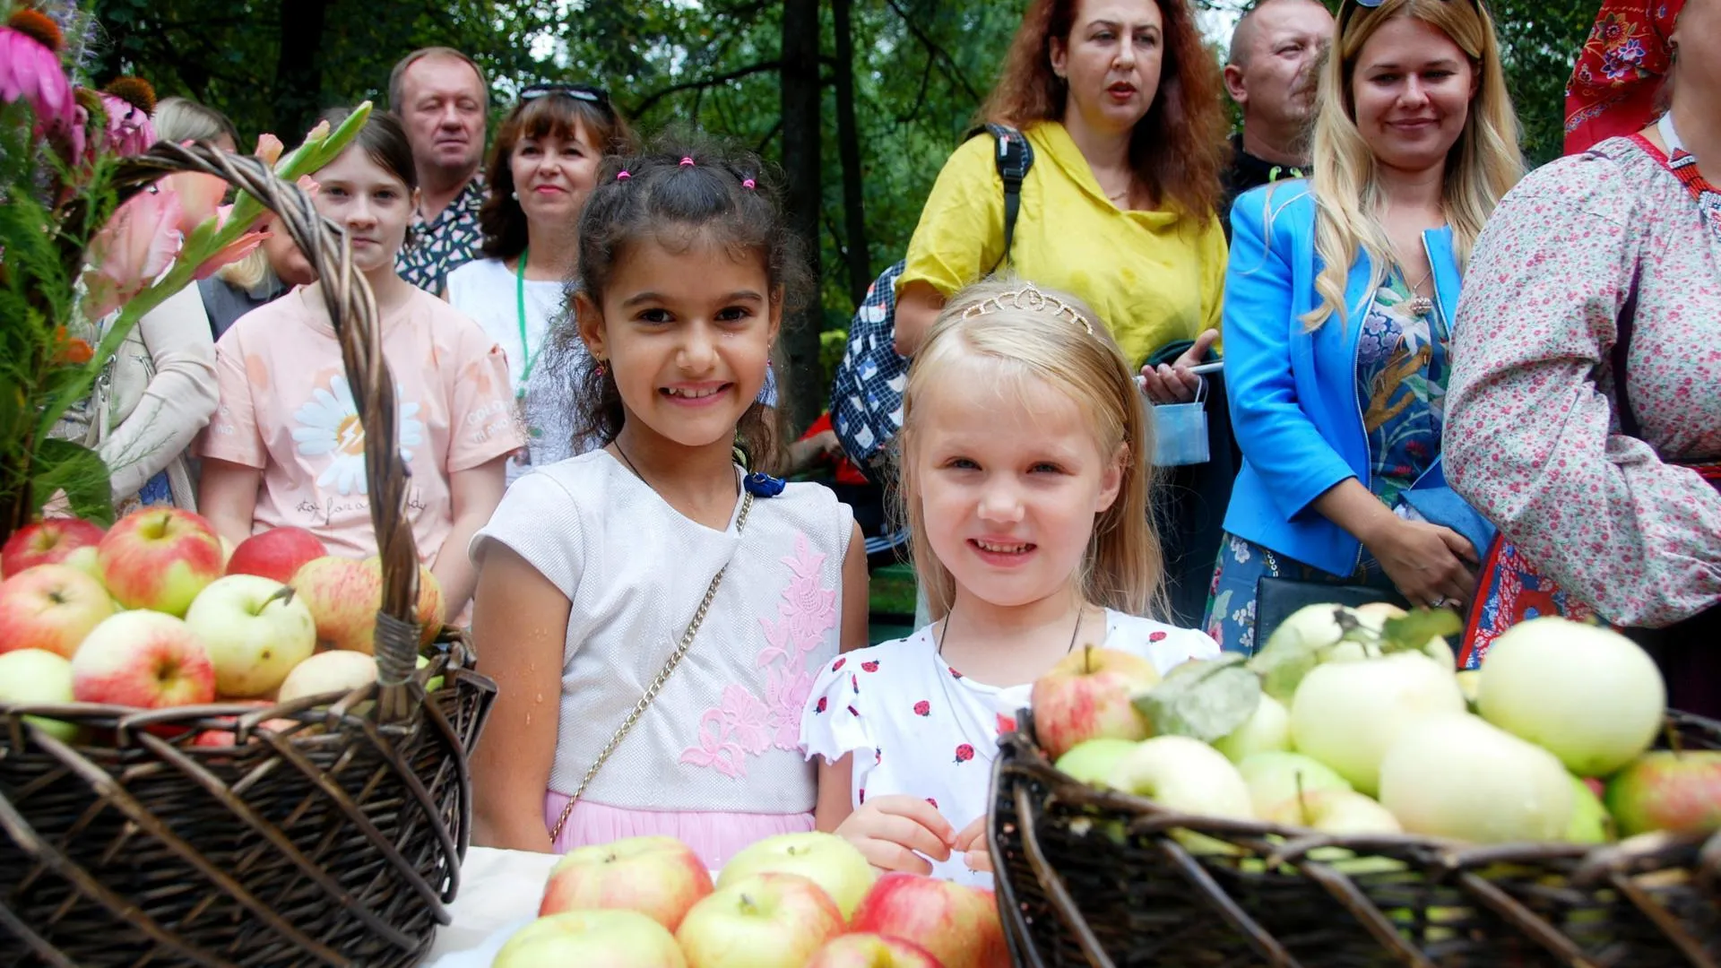
<path id="1" fill-rule="evenodd" d="M 1451 324 L 1470 245 L 1521 174 L 1480 0 L 1344 0 L 1313 181 L 1232 207 L 1225 384 L 1243 450 L 1206 630 L 1255 651 L 1261 577 L 1459 605 L 1477 549 L 1403 512 L 1442 482 Z M 1396 513 L 1397 512 L 1397 513 Z"/>

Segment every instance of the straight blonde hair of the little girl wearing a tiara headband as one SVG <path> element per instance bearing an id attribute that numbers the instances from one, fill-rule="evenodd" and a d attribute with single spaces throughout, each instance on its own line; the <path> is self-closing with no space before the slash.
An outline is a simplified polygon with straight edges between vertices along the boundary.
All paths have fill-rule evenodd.
<path id="1" fill-rule="evenodd" d="M 1119 446 L 1124 448 L 1117 500 L 1095 518 L 1081 591 L 1089 603 L 1129 615 L 1163 611 L 1163 560 L 1148 506 L 1146 455 L 1153 448 L 1153 429 L 1146 406 L 1105 322 L 1065 293 L 1034 289 L 1017 279 L 988 279 L 952 296 L 938 313 L 909 367 L 902 394 L 897 500 L 910 532 L 926 534 L 916 453 L 924 419 L 919 401 L 933 386 L 948 382 L 953 363 L 974 358 L 998 367 L 1000 386 L 1039 379 L 1072 400 L 1088 415 L 1101 458 L 1110 460 Z M 926 587 L 933 618 L 948 615 L 955 577 L 931 543 L 914 543 L 914 570 Z"/>

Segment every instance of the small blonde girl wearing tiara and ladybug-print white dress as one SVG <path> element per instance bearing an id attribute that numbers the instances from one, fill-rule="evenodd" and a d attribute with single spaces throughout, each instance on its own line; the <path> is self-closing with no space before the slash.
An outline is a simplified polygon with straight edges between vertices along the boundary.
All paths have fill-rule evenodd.
<path id="1" fill-rule="evenodd" d="M 1162 599 L 1151 450 L 1134 374 L 1074 296 L 988 281 L 959 293 L 904 391 L 902 505 L 933 624 L 824 665 L 800 720 L 821 816 L 885 870 L 991 880 L 986 789 L 1005 689 L 1083 644 L 1165 672 L 1215 656 L 1144 618 Z"/>

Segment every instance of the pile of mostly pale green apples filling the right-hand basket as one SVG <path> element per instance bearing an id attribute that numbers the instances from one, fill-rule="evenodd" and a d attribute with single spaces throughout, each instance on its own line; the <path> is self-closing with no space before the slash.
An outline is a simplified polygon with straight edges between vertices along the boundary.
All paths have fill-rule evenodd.
<path id="1" fill-rule="evenodd" d="M 1446 622 L 1315 605 L 1256 656 L 1163 680 L 1134 655 L 1074 653 L 1034 682 L 1034 732 L 1081 782 L 1329 834 L 1595 844 L 1721 828 L 1721 753 L 1649 749 L 1666 684 L 1642 648 L 1537 618 L 1454 672 Z"/>

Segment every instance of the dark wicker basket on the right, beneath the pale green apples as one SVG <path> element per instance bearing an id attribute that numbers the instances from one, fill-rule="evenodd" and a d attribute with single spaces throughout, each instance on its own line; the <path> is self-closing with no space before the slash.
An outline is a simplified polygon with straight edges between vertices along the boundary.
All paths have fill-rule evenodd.
<path id="1" fill-rule="evenodd" d="M 1031 715 L 1019 722 L 1000 741 L 990 830 L 1017 965 L 1721 963 L 1721 837 L 1480 847 L 1179 815 L 1053 770 Z M 1673 722 L 1685 748 L 1721 748 L 1721 725 Z M 1232 849 L 1191 853 L 1174 828 Z M 1354 858 L 1310 859 L 1320 847 Z"/>

